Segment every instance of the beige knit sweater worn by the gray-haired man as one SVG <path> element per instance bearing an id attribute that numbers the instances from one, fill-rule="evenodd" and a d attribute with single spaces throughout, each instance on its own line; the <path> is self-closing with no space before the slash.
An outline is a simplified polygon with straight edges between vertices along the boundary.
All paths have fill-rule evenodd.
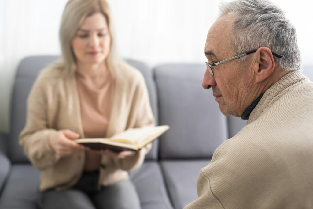
<path id="1" fill-rule="evenodd" d="M 290 72 L 201 169 L 185 209 L 313 208 L 313 83 Z"/>

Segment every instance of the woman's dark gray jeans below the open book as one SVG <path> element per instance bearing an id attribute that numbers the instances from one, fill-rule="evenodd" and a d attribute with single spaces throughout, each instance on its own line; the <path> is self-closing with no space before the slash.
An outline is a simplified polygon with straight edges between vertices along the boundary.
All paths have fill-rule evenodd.
<path id="1" fill-rule="evenodd" d="M 140 209 L 140 201 L 131 180 L 96 190 L 98 172 L 84 172 L 71 189 L 38 192 L 41 209 Z"/>

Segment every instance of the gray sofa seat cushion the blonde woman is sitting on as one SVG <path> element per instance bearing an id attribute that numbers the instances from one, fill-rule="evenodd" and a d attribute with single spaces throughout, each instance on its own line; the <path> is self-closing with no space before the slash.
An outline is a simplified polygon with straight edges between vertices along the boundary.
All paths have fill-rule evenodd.
<path id="1" fill-rule="evenodd" d="M 0 197 L 0 208 L 36 209 L 39 171 L 30 164 L 15 164 Z M 131 173 L 142 209 L 171 209 L 161 169 L 157 162 L 147 161 Z"/>

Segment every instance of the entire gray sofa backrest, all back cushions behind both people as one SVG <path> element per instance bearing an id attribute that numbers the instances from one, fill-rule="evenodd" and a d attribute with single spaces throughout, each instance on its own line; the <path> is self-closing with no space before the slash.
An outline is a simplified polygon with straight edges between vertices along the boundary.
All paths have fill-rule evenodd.
<path id="1" fill-rule="evenodd" d="M 25 125 L 26 100 L 39 71 L 57 59 L 59 56 L 31 56 L 24 58 L 18 66 L 8 142 L 8 154 L 13 163 L 28 162 L 18 144 L 18 135 Z M 205 66 L 168 64 L 151 70 L 142 62 L 126 61 L 139 69 L 145 78 L 156 124 L 160 122 L 161 125 L 171 126 L 160 143 L 153 142 L 146 159 L 157 159 L 158 150 L 161 158 L 210 158 L 220 143 L 245 126 L 246 121 L 233 116 L 228 116 L 226 123 L 226 117 L 214 101 L 212 90 L 201 87 Z M 304 75 L 310 80 L 313 80 L 312 68 L 303 67 Z"/>

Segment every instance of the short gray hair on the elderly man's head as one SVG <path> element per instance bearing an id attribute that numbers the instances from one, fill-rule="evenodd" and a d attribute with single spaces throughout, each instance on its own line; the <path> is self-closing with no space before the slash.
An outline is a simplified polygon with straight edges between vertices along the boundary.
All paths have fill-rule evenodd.
<path id="1" fill-rule="evenodd" d="M 219 17 L 225 14 L 234 17 L 229 44 L 236 55 L 266 46 L 282 56 L 274 60 L 285 71 L 301 70 L 295 27 L 278 6 L 267 0 L 236 0 L 220 5 Z"/>

